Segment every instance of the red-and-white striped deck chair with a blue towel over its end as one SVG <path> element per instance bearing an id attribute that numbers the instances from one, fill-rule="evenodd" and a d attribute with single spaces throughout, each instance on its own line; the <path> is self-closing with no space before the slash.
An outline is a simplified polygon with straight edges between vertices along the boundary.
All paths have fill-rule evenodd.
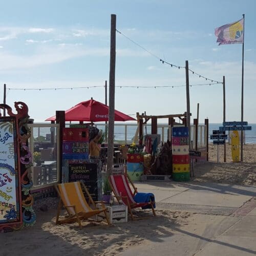
<path id="1" fill-rule="evenodd" d="M 137 188 L 134 186 L 129 176 L 127 176 L 126 174 L 110 175 L 109 182 L 112 187 L 112 191 L 115 197 L 117 198 L 117 201 L 119 202 L 120 200 L 122 200 L 122 203 L 127 205 L 128 211 L 129 211 L 129 214 L 131 215 L 132 220 L 145 219 L 145 218 L 134 217 L 132 209 L 138 208 L 138 207 L 141 207 L 142 209 L 151 208 L 153 211 L 153 215 L 156 216 L 156 212 L 154 209 L 155 199 L 154 201 L 152 201 L 152 198 L 147 198 L 146 200 L 144 200 L 144 202 L 139 202 L 139 203 L 135 201 L 136 198 L 138 198 L 137 196 L 139 196 L 139 194 L 146 195 L 146 193 L 138 193 Z M 129 182 L 132 185 L 134 192 L 132 192 Z"/>

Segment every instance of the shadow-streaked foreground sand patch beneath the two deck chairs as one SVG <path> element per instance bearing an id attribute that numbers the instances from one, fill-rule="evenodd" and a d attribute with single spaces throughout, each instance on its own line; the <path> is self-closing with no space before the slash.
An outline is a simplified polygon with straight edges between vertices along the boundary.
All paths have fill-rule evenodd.
<path id="1" fill-rule="evenodd" d="M 8 255 L 116 255 L 145 241 L 172 236 L 172 228 L 187 225 L 189 213 L 139 211 L 148 219 L 108 226 L 104 222 L 55 225 L 56 210 L 39 212 L 33 227 L 0 234 L 1 256 Z"/>

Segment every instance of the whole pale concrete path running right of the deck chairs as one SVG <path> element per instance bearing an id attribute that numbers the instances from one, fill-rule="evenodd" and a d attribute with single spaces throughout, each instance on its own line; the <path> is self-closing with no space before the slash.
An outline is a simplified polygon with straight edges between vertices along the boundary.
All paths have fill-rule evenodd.
<path id="1" fill-rule="evenodd" d="M 154 193 L 158 209 L 197 214 L 188 225 L 174 227 L 173 236 L 120 255 L 256 254 L 256 187 L 202 182 L 138 182 L 136 187 Z"/>

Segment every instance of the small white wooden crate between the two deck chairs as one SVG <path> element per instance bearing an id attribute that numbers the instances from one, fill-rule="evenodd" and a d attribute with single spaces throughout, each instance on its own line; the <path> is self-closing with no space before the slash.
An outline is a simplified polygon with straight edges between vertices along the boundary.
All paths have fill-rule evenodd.
<path id="1" fill-rule="evenodd" d="M 106 207 L 106 214 L 109 217 L 110 223 L 120 223 L 120 222 L 127 222 L 128 219 L 128 209 L 126 205 L 105 205 Z M 102 205 L 97 204 L 97 208 L 101 209 Z M 104 212 L 101 212 L 99 216 L 104 217 Z M 101 219 L 97 216 L 97 220 Z"/>

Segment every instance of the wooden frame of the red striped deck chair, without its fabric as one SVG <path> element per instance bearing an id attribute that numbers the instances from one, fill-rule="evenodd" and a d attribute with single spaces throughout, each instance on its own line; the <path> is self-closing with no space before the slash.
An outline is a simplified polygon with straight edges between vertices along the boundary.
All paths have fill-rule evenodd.
<path id="1" fill-rule="evenodd" d="M 118 175 L 119 175 L 119 174 L 118 174 Z M 135 187 L 135 185 L 133 184 L 131 178 L 130 178 L 126 173 L 123 173 L 123 174 L 120 174 L 120 175 L 125 176 L 125 177 L 127 178 L 127 180 L 131 183 L 131 185 L 132 185 L 132 187 L 133 187 L 133 189 L 134 189 L 134 192 L 132 191 L 132 192 L 133 192 L 133 197 L 134 197 L 134 196 L 138 193 L 137 187 Z M 115 174 L 114 174 L 113 176 L 115 176 Z M 110 179 L 110 177 L 109 177 L 109 179 Z M 141 206 L 137 206 L 136 204 L 130 203 L 130 201 L 129 201 L 129 199 L 128 199 L 127 197 L 123 197 L 123 196 L 120 197 L 120 196 L 118 196 L 117 193 L 116 193 L 116 191 L 115 191 L 115 189 L 114 189 L 114 187 L 113 187 L 113 185 L 112 185 L 112 182 L 110 181 L 109 183 L 110 183 L 110 185 L 111 185 L 112 191 L 113 191 L 114 196 L 115 196 L 115 198 L 117 199 L 118 203 L 119 203 L 119 200 L 122 200 L 122 201 L 123 201 L 123 199 L 126 200 L 126 202 L 127 202 L 127 207 L 128 207 L 128 211 L 129 211 L 129 214 L 131 215 L 131 219 L 132 219 L 132 220 L 147 219 L 147 218 L 145 218 L 145 217 L 142 217 L 142 218 L 135 217 L 134 214 L 133 214 L 132 209 L 138 208 L 138 207 L 141 207 Z M 156 203 L 155 201 L 150 201 L 150 202 L 147 203 L 148 205 L 151 205 L 151 209 L 152 209 L 152 212 L 153 212 L 153 215 L 154 215 L 154 216 L 156 216 L 156 211 L 155 211 L 155 209 L 154 209 L 154 204 L 155 204 L 155 203 Z M 145 205 L 146 205 L 146 203 L 145 203 Z"/>

